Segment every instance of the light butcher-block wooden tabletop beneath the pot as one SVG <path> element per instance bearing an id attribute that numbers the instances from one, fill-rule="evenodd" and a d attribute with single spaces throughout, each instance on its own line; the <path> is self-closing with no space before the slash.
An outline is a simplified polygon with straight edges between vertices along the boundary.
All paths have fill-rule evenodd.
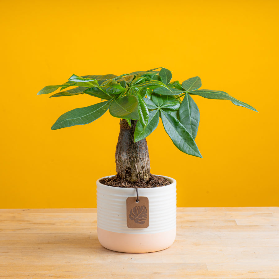
<path id="1" fill-rule="evenodd" d="M 1 209 L 0 278 L 279 278 L 279 207 L 178 208 L 168 249 L 118 253 L 96 209 Z"/>

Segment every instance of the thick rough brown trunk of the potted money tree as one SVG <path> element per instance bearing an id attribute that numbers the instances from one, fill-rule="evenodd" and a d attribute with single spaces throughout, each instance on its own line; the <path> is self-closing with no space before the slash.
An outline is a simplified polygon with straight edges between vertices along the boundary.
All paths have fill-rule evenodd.
<path id="1" fill-rule="evenodd" d="M 137 121 L 120 120 L 120 132 L 116 145 L 115 162 L 117 175 L 127 181 L 149 180 L 150 160 L 146 139 L 134 141 Z"/>

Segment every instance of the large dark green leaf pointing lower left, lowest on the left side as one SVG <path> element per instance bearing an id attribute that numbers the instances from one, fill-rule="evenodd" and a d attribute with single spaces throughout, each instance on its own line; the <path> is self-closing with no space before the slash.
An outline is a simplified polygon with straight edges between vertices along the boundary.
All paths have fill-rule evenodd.
<path id="1" fill-rule="evenodd" d="M 75 108 L 61 115 L 51 127 L 57 130 L 74 125 L 84 125 L 102 116 L 109 108 L 111 100 L 94 104 L 85 108 Z"/>

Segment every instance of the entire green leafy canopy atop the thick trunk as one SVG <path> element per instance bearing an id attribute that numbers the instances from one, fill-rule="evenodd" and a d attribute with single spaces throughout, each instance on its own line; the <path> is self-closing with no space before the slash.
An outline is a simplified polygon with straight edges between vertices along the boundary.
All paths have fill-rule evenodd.
<path id="1" fill-rule="evenodd" d="M 209 99 L 230 100 L 245 108 L 255 108 L 243 103 L 223 91 L 200 90 L 201 79 L 189 78 L 182 82 L 171 82 L 170 70 L 161 68 L 127 73 L 121 76 L 72 75 L 61 85 L 46 86 L 40 94 L 48 94 L 60 88 L 51 97 L 88 94 L 101 102 L 84 108 L 76 108 L 61 115 L 51 127 L 52 130 L 83 125 L 93 122 L 107 110 L 118 118 L 138 120 L 135 128 L 135 142 L 146 138 L 158 126 L 159 119 L 175 146 L 184 153 L 201 157 L 195 143 L 199 126 L 199 109 L 191 95 Z M 73 87 L 75 86 L 75 87 Z M 71 89 L 67 89 L 71 87 Z"/>

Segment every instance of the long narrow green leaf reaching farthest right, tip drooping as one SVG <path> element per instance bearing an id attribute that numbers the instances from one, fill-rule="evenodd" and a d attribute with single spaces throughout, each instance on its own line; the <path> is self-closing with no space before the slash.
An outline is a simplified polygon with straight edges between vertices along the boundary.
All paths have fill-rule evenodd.
<path id="1" fill-rule="evenodd" d="M 189 93 L 194 94 L 194 95 L 199 95 L 201 97 L 208 98 L 208 99 L 230 100 L 233 104 L 235 104 L 237 106 L 249 108 L 249 109 L 257 112 L 257 110 L 255 108 L 253 108 L 252 106 L 250 106 L 249 104 L 243 103 L 243 102 L 233 98 L 232 96 L 228 95 L 228 93 L 226 93 L 224 91 L 202 89 L 202 90 L 191 91 Z"/>

